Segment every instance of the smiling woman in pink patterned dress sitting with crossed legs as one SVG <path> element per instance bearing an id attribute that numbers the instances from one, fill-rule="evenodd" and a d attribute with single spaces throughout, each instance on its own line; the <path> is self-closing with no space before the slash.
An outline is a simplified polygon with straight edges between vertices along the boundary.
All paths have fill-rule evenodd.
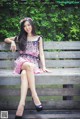
<path id="1" fill-rule="evenodd" d="M 48 72 L 45 66 L 42 37 L 36 35 L 33 20 L 24 18 L 21 20 L 21 31 L 18 37 L 6 38 L 6 43 L 11 43 L 11 50 L 16 51 L 16 40 L 19 46 L 20 56 L 15 60 L 14 72 L 21 74 L 21 98 L 16 111 L 15 119 L 22 119 L 27 90 L 30 88 L 32 99 L 37 111 L 43 106 L 35 88 L 36 73 Z M 39 68 L 38 61 L 41 60 L 42 67 Z"/>

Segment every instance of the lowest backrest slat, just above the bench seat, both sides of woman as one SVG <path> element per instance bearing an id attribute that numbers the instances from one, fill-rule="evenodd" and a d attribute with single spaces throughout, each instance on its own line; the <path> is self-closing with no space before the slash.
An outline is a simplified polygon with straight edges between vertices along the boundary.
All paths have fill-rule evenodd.
<path id="1" fill-rule="evenodd" d="M 14 60 L 1 60 L 0 61 L 0 69 L 1 68 L 13 68 L 14 67 Z M 80 60 L 46 60 L 46 67 L 48 68 L 60 68 L 60 67 L 80 67 Z"/>

